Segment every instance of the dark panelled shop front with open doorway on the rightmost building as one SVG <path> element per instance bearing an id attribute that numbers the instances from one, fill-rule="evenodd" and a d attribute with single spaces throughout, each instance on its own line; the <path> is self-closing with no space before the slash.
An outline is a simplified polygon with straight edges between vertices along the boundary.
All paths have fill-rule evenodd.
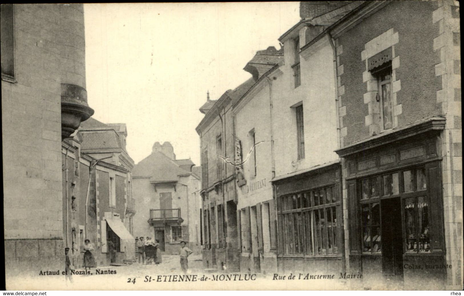
<path id="1" fill-rule="evenodd" d="M 443 287 L 437 129 L 429 123 L 337 151 L 346 169 L 350 272 L 362 273 L 364 286 Z"/>

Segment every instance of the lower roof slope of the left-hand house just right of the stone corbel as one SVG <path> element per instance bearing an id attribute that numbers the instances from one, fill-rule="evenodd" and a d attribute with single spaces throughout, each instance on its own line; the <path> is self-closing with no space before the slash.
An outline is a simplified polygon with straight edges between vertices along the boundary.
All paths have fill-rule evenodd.
<path id="1" fill-rule="evenodd" d="M 113 129 L 81 130 L 83 149 L 121 148 L 119 136 Z"/>

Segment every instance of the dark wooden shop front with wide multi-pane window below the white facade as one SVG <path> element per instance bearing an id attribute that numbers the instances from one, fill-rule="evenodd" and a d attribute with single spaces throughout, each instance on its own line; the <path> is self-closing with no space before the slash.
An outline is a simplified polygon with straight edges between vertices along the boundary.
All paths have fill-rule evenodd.
<path id="1" fill-rule="evenodd" d="M 344 272 L 340 164 L 276 177 L 273 184 L 277 196 L 278 271 Z"/>

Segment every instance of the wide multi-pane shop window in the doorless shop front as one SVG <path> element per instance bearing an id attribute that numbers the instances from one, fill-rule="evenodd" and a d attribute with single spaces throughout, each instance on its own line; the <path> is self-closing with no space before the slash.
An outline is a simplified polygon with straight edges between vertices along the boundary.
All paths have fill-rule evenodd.
<path id="1" fill-rule="evenodd" d="M 285 195 L 277 202 L 281 254 L 339 254 L 337 207 L 341 205 L 335 186 Z"/>

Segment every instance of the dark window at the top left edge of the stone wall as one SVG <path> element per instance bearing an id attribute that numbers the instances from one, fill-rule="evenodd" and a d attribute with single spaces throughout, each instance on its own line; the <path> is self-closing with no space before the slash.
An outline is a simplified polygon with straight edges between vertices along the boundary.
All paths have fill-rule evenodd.
<path id="1" fill-rule="evenodd" d="M 0 6 L 1 78 L 14 80 L 13 4 Z"/>

